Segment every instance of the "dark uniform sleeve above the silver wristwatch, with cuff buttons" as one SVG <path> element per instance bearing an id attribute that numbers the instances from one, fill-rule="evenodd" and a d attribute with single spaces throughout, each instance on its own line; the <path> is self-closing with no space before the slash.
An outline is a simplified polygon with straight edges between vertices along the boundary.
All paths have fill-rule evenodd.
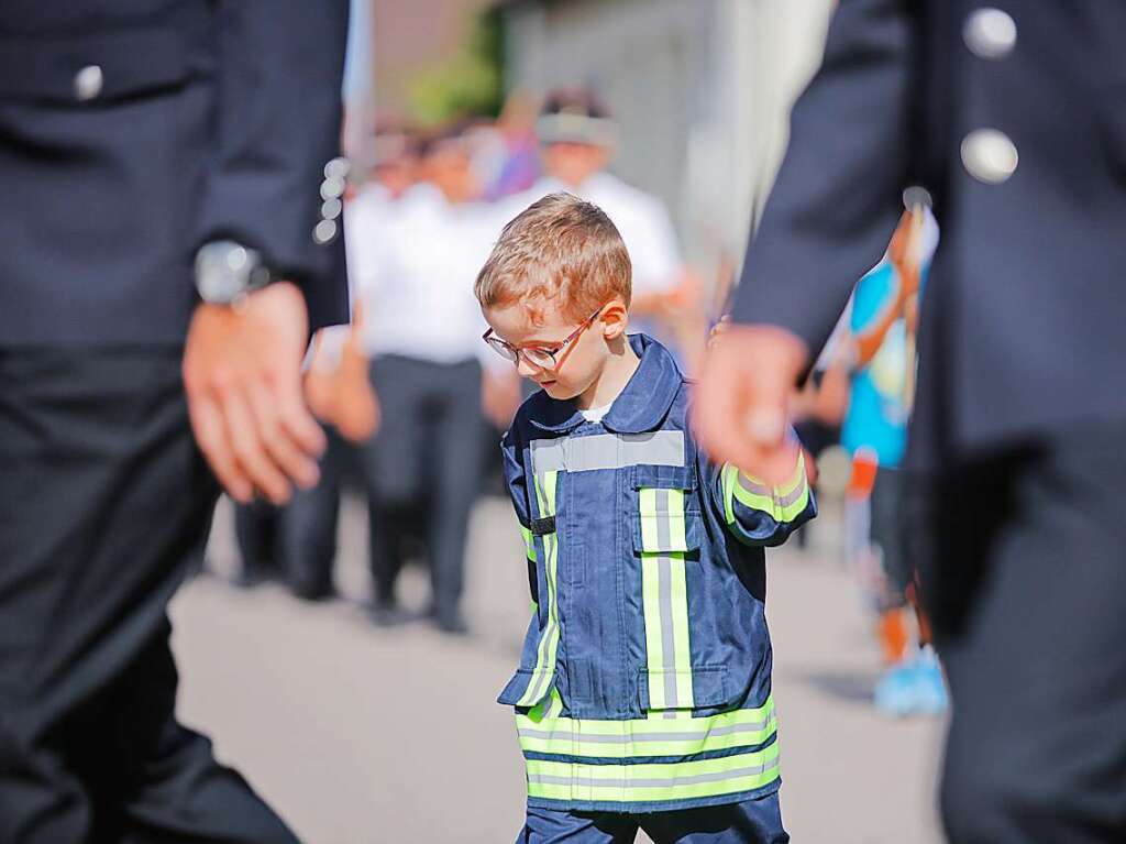
<path id="1" fill-rule="evenodd" d="M 348 0 L 220 0 L 212 163 L 196 246 L 230 238 L 296 282 L 312 328 L 347 320 L 343 239 L 313 241 L 340 154 Z M 337 220 L 339 225 L 340 221 Z"/>

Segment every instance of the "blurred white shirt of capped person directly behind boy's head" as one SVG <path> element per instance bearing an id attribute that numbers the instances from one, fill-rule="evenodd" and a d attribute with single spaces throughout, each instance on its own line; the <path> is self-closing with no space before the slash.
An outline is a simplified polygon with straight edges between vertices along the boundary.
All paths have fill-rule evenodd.
<path id="1" fill-rule="evenodd" d="M 635 296 L 663 293 L 677 285 L 681 268 L 677 232 L 660 199 L 609 172 L 595 174 L 578 188 L 545 176 L 517 195 L 522 204 L 509 216 L 555 193 L 574 194 L 592 202 L 610 217 L 629 252 Z"/>

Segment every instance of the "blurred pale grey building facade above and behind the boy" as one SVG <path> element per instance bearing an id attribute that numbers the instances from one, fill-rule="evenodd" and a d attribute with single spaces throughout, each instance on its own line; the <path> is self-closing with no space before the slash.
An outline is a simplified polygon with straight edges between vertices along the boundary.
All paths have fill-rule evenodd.
<path id="1" fill-rule="evenodd" d="M 614 170 L 661 197 L 689 261 L 738 264 L 821 61 L 834 0 L 507 0 L 509 91 L 593 87 Z"/>

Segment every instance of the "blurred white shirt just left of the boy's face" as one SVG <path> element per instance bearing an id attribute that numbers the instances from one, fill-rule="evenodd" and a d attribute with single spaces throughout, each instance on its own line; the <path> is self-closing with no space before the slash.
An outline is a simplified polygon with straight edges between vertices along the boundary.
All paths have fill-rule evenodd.
<path id="1" fill-rule="evenodd" d="M 345 215 L 348 274 L 364 302 L 369 355 L 511 364 L 481 340 L 473 283 L 506 219 L 485 203 L 450 204 L 430 185 L 397 201 L 367 192 Z M 493 359 L 495 358 L 495 361 Z"/>

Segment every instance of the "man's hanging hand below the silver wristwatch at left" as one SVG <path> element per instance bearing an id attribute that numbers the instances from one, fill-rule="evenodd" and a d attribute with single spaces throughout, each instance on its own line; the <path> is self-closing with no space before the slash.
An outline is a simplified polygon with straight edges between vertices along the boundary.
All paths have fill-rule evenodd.
<path id="1" fill-rule="evenodd" d="M 291 483 L 313 487 L 324 432 L 305 407 L 301 364 L 309 317 L 301 291 L 278 282 L 239 308 L 196 308 L 184 349 L 191 429 L 223 488 L 275 504 Z"/>

